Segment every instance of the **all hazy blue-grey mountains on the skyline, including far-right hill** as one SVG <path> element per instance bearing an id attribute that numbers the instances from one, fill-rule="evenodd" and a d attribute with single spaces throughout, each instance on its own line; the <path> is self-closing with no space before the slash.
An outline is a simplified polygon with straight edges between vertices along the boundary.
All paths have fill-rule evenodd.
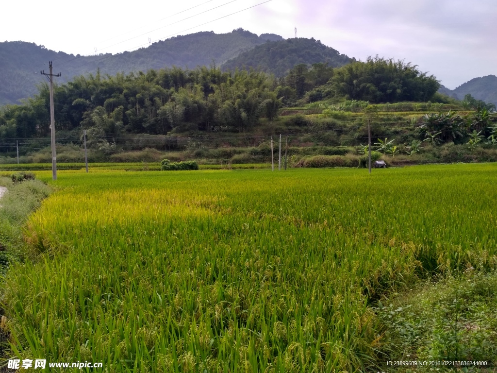
<path id="1" fill-rule="evenodd" d="M 242 28 L 225 34 L 212 31 L 180 35 L 140 48 L 132 52 L 81 56 L 55 52 L 43 45 L 23 41 L 0 43 L 0 105 L 19 103 L 19 100 L 38 92 L 37 85 L 45 78 L 40 70 L 48 71 L 48 61 L 53 61 L 58 84 L 100 69 L 102 74 L 146 72 L 177 66 L 193 69 L 197 66 L 220 66 L 223 70 L 253 68 L 285 76 L 297 64 L 311 65 L 318 62 L 339 67 L 353 61 L 337 50 L 314 38 L 283 39 L 276 34 L 257 35 Z M 497 77 L 489 75 L 475 78 L 455 90 L 440 87 L 457 99 L 471 93 L 473 97 L 497 105 Z"/>

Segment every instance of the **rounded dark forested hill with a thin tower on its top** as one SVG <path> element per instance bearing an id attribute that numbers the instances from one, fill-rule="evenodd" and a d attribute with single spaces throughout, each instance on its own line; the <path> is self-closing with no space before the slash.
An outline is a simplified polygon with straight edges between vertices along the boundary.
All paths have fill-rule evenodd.
<path id="1" fill-rule="evenodd" d="M 282 77 L 298 64 L 312 65 L 322 62 L 331 67 L 340 67 L 350 61 L 352 59 L 324 45 L 320 40 L 293 38 L 258 45 L 226 62 L 222 67 L 224 70 L 251 67 Z"/>

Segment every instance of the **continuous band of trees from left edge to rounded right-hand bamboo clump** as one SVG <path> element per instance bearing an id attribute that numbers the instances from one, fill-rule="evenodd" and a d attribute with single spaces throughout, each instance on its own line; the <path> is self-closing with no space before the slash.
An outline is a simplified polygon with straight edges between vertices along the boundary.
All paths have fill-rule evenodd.
<path id="1" fill-rule="evenodd" d="M 254 70 L 211 66 L 115 76 L 79 76 L 54 90 L 56 130 L 101 134 L 250 131 L 279 108 L 321 99 L 424 101 L 439 83 L 402 61 L 370 58 L 340 68 L 297 65 L 275 78 Z M 49 88 L 20 105 L 0 108 L 0 139 L 49 135 Z"/>

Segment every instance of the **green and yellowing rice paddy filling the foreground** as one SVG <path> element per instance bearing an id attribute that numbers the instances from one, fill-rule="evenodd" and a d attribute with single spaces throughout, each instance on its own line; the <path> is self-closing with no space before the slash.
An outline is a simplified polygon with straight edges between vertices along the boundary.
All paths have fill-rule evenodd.
<path id="1" fill-rule="evenodd" d="M 2 285 L 12 354 L 108 372 L 357 372 L 375 302 L 497 266 L 497 165 L 37 172 L 40 260 Z"/>

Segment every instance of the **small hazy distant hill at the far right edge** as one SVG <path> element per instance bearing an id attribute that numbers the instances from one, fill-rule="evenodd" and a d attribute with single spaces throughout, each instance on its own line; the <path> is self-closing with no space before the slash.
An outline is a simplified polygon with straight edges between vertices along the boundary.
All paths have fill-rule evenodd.
<path id="1" fill-rule="evenodd" d="M 475 78 L 462 84 L 455 90 L 449 90 L 442 86 L 439 92 L 459 100 L 464 99 L 466 94 L 471 94 L 476 99 L 497 105 L 497 77 L 495 75 L 488 75 L 482 78 Z"/>

